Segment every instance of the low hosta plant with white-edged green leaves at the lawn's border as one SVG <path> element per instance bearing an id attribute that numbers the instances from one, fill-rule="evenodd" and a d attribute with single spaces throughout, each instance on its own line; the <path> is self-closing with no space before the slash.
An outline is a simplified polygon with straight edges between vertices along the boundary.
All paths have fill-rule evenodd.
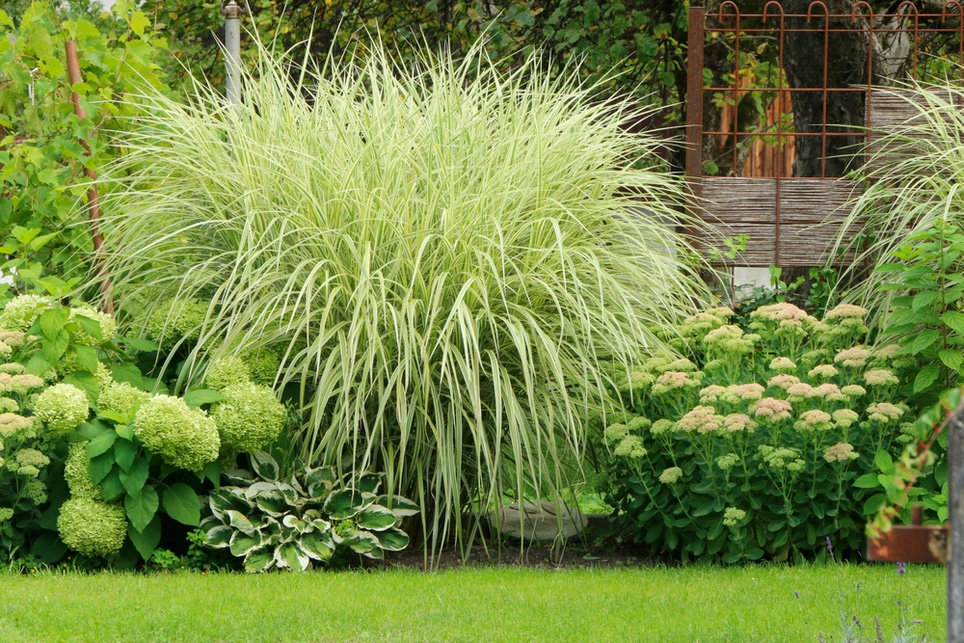
<path id="1" fill-rule="evenodd" d="M 228 548 L 249 572 L 304 571 L 347 552 L 383 558 L 408 545 L 399 525 L 418 508 L 399 496 L 377 495 L 379 476 L 362 475 L 349 485 L 333 467 L 284 476 L 263 451 L 251 456 L 251 467 L 224 473 L 234 485 L 211 494 L 211 515 L 201 523 L 205 544 Z"/>

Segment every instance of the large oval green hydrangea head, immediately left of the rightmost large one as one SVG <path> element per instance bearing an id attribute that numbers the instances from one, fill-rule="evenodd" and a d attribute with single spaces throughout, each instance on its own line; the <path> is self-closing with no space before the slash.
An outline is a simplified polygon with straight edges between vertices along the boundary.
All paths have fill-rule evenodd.
<path id="1" fill-rule="evenodd" d="M 165 462 L 187 471 L 200 471 L 221 448 L 214 420 L 173 395 L 155 395 L 141 404 L 134 434 Z"/>

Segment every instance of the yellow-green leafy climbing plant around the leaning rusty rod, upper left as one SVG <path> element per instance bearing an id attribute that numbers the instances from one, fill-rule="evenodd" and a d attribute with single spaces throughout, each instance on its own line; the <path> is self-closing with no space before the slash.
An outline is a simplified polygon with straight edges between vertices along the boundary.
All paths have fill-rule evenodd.
<path id="1" fill-rule="evenodd" d="M 67 40 L 80 53 L 83 82 L 74 86 Z M 62 297 L 87 272 L 93 242 L 79 225 L 84 169 L 99 171 L 116 157 L 104 132 L 126 128 L 138 110 L 132 94 L 144 85 L 167 91 L 157 65 L 165 47 L 126 0 L 110 13 L 55 2 L 33 2 L 19 16 L 0 10 L 0 271 L 15 271 L 21 290 Z M 87 118 L 75 116 L 71 91 Z"/>

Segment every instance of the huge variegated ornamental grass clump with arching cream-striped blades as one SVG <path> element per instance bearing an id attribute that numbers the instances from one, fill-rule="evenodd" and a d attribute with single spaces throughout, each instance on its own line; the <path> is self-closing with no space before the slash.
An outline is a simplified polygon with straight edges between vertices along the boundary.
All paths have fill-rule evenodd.
<path id="1" fill-rule="evenodd" d="M 682 184 L 646 169 L 658 142 L 619 127 L 628 103 L 538 55 L 503 73 L 481 47 L 416 68 L 367 51 L 261 52 L 237 107 L 200 82 L 141 97 L 105 248 L 152 329 L 206 304 L 185 377 L 277 349 L 301 460 L 385 471 L 440 547 L 473 507 L 561 498 L 606 365 L 663 346 L 651 329 L 703 286 L 665 225 Z"/>

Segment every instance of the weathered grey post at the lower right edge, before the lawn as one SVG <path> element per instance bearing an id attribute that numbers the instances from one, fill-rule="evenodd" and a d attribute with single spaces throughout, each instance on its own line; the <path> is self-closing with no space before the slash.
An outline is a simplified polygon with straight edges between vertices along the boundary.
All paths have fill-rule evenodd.
<path id="1" fill-rule="evenodd" d="M 947 640 L 964 641 L 964 409 L 951 417 L 947 442 L 947 506 L 950 562 L 947 569 Z"/>

